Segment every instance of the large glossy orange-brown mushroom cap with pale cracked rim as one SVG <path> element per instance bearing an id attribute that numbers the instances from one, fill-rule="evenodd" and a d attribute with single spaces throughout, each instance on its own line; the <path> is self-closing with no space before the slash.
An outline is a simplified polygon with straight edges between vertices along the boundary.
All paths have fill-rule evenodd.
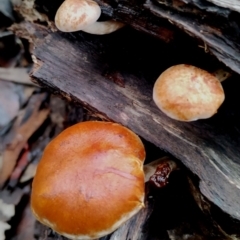
<path id="1" fill-rule="evenodd" d="M 71 239 L 114 231 L 144 206 L 140 138 L 110 122 L 64 130 L 44 150 L 32 185 L 36 218 Z"/>

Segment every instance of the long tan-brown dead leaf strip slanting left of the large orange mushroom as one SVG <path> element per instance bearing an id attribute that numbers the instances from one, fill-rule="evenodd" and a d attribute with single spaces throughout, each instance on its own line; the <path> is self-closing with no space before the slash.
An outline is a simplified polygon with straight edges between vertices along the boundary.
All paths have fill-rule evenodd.
<path id="1" fill-rule="evenodd" d="M 24 122 L 16 130 L 14 139 L 3 153 L 3 163 L 0 171 L 0 186 L 2 186 L 11 175 L 17 163 L 18 156 L 28 139 L 47 118 L 49 109 L 38 110 L 45 97 L 46 94 L 44 93 L 33 95 L 25 108 Z"/>

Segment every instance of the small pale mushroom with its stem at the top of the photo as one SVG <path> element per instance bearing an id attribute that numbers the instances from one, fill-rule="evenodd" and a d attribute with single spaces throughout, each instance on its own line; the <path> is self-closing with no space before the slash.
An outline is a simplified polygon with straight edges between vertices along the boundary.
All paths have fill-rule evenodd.
<path id="1" fill-rule="evenodd" d="M 97 22 L 101 8 L 92 0 L 65 0 L 55 15 L 56 27 L 63 32 L 82 30 L 91 34 L 108 34 L 124 26 L 109 20 Z"/>

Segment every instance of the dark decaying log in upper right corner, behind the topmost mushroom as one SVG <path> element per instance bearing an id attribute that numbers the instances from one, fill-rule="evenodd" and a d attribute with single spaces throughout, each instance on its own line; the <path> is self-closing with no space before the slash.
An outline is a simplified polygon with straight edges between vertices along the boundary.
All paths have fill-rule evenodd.
<path id="1" fill-rule="evenodd" d="M 96 0 L 104 16 L 166 42 L 184 39 L 177 28 L 198 39 L 206 51 L 240 73 L 240 26 L 237 0 Z M 62 0 L 36 0 L 54 18 Z M 237 12 L 238 11 L 238 12 Z M 176 28 L 177 27 L 177 28 Z"/>

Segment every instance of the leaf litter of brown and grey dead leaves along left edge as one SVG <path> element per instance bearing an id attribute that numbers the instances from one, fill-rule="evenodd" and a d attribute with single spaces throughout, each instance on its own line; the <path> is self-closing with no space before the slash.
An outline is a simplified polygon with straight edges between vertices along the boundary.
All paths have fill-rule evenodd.
<path id="1" fill-rule="evenodd" d="M 66 103 L 29 77 L 31 44 L 8 30 L 16 21 L 13 7 L 24 4 L 32 11 L 32 3 L 0 1 L 0 240 L 35 239 L 31 181 L 45 146 L 63 130 L 66 118 Z"/>

